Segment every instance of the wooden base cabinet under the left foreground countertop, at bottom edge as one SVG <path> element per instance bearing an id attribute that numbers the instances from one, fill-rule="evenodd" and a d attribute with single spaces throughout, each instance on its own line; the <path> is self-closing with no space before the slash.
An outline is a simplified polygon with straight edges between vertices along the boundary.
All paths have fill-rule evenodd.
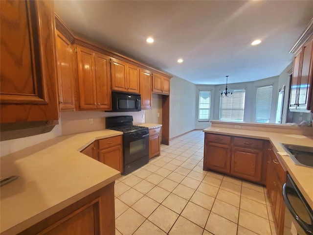
<path id="1" fill-rule="evenodd" d="M 19 235 L 114 235 L 114 182 L 56 212 Z"/>

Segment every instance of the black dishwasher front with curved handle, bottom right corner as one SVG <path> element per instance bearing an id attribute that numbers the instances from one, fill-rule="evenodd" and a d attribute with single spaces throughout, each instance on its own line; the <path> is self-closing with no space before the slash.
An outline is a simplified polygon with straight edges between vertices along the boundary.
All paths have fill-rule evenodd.
<path id="1" fill-rule="evenodd" d="M 283 186 L 286 205 L 284 235 L 313 235 L 313 211 L 291 176 L 287 176 Z"/>

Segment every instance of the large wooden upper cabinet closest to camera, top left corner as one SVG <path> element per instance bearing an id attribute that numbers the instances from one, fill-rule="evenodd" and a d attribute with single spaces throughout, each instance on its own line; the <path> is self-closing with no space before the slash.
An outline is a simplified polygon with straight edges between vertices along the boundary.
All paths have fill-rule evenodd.
<path id="1" fill-rule="evenodd" d="M 0 1 L 1 123 L 58 120 L 53 1 Z"/>

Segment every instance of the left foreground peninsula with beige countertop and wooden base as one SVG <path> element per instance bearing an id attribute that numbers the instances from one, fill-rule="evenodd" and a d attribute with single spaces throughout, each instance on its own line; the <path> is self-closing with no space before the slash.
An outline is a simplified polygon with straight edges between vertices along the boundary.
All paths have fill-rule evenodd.
<path id="1" fill-rule="evenodd" d="M 1 178 L 19 178 L 1 187 L 0 233 L 37 234 L 44 221 L 45 232 L 114 234 L 114 181 L 120 172 L 80 151 L 119 135 L 103 130 L 61 136 L 1 157 Z"/>

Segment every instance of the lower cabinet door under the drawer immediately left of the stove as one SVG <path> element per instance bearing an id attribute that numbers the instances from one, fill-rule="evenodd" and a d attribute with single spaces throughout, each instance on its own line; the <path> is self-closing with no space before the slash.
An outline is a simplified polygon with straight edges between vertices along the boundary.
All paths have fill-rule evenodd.
<path id="1" fill-rule="evenodd" d="M 117 145 L 99 151 L 99 161 L 120 172 L 123 172 L 122 146 Z"/>

